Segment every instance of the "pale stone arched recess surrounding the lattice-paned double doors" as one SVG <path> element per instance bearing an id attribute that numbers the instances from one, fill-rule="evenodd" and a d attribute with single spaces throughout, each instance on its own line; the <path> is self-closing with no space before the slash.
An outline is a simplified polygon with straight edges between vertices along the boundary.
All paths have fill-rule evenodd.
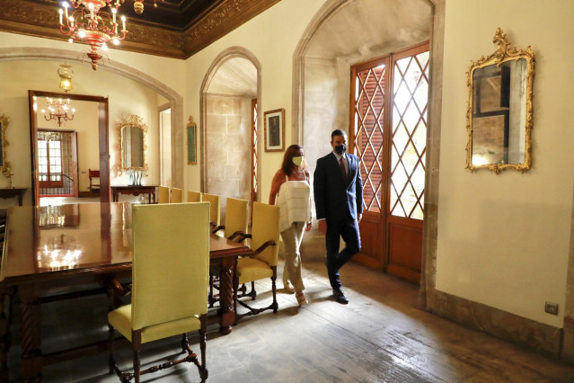
<path id="1" fill-rule="evenodd" d="M 432 206 L 437 202 L 441 104 L 432 83 L 442 80 L 444 9 L 443 0 L 332 0 L 309 23 L 294 54 L 293 139 L 305 143 L 305 154 L 313 165 L 315 158 L 331 150 L 331 130 L 349 127 L 353 111 L 349 105 L 351 65 L 430 40 L 426 164 L 431 173 L 425 178 L 424 206 L 428 214 L 422 229 L 421 291 L 427 288 L 426 281 L 434 281 L 436 273 L 432 266 L 432 259 L 436 259 L 432 241 L 436 240 L 437 217 Z M 340 36 L 333 37 L 336 31 L 340 31 Z M 323 107 L 317 107 L 317 100 Z M 425 257 L 430 257 L 429 263 Z M 434 285 L 428 287 L 432 289 Z"/>

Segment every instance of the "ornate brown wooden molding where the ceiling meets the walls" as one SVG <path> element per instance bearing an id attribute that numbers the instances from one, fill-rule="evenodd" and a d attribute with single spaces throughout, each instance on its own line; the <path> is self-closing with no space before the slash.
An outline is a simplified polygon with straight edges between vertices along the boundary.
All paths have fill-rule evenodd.
<path id="1" fill-rule="evenodd" d="M 225 0 L 183 32 L 145 25 L 131 18 L 128 36 L 119 49 L 169 58 L 189 58 L 279 1 Z M 153 9 L 147 11 L 153 12 Z M 66 36 L 57 29 L 57 23 L 57 7 L 53 4 L 28 0 L 0 1 L 0 31 L 66 40 Z"/>

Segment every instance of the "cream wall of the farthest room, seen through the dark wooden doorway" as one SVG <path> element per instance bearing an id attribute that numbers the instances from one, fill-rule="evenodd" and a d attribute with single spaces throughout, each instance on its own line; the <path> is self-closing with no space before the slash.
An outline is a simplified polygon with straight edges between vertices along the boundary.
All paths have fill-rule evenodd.
<path id="1" fill-rule="evenodd" d="M 1 65 L 1 64 L 0 64 Z M 35 89 L 37 90 L 37 89 Z M 38 129 L 75 130 L 77 137 L 78 190 L 88 191 L 88 169 L 100 169 L 100 147 L 98 145 L 98 102 L 74 101 L 74 120 L 68 120 L 58 128 L 56 121 L 47 121 L 42 109 L 46 110 L 46 98 L 37 99 Z M 97 181 L 96 181 L 97 182 Z"/>

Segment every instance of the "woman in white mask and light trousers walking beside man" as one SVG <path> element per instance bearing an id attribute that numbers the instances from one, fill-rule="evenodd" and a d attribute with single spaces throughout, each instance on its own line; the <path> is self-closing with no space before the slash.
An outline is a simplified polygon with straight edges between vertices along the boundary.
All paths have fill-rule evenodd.
<path id="1" fill-rule="evenodd" d="M 291 294 L 296 292 L 299 306 L 308 303 L 303 292 L 305 286 L 301 279 L 299 246 L 303 240 L 305 227 L 309 231 L 313 225 L 311 222 L 309 172 L 305 167 L 303 147 L 299 145 L 287 147 L 281 168 L 271 182 L 271 192 L 269 193 L 269 205 L 277 204 L 281 210 L 279 230 L 285 245 L 283 286 Z"/>

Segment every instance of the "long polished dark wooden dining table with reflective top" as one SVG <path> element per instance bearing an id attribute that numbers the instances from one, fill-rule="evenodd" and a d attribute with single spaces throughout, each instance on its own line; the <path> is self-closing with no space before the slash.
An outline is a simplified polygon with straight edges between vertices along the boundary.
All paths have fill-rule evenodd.
<path id="1" fill-rule="evenodd" d="M 193 229 L 190 227 L 190 229 Z M 10 346 L 4 296 L 20 300 L 22 377 L 39 381 L 43 365 L 106 350 L 104 340 L 73 350 L 41 352 L 40 304 L 104 293 L 106 281 L 130 281 L 131 204 L 84 203 L 8 209 L 0 267 L 0 380 L 7 381 Z M 252 250 L 210 235 L 210 264 L 220 270 L 220 309 L 208 318 L 229 334 L 235 321 L 233 275 L 237 256 Z M 107 335 L 106 335 L 107 336 Z"/>

